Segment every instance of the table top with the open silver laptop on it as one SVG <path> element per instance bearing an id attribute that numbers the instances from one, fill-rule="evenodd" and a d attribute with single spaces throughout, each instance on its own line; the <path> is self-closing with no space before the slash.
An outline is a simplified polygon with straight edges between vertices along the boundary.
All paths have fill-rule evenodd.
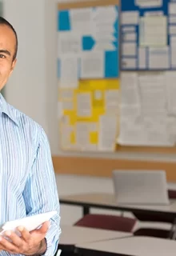
<path id="1" fill-rule="evenodd" d="M 153 212 L 156 214 L 176 214 L 176 200 L 171 200 L 170 205 L 123 205 L 118 204 L 114 194 L 90 193 L 60 196 L 60 202 L 74 206 L 88 206 L 109 210 L 124 210 L 133 212 Z"/>

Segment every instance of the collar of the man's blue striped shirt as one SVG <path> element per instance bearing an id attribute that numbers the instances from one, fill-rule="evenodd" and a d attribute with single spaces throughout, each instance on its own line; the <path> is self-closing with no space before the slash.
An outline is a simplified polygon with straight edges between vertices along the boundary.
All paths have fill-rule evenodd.
<path id="1" fill-rule="evenodd" d="M 0 94 L 0 114 L 6 114 L 16 125 L 19 125 L 18 118 L 15 116 L 14 111 L 12 111 L 11 106 Z"/>

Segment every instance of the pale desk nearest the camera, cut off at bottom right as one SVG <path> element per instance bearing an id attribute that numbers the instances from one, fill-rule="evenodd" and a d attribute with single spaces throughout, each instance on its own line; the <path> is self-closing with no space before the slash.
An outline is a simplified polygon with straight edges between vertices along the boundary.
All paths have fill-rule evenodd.
<path id="1" fill-rule="evenodd" d="M 131 237 L 81 244 L 76 249 L 82 255 L 91 256 L 175 256 L 176 242 L 160 238 Z"/>

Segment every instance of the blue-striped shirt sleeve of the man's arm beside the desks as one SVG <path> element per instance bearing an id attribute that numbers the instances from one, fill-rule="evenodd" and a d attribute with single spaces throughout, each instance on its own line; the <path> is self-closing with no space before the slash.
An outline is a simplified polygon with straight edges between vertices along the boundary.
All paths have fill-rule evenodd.
<path id="1" fill-rule="evenodd" d="M 26 182 L 23 198 L 27 216 L 56 210 L 58 214 L 50 220 L 50 229 L 46 234 L 47 250 L 45 256 L 54 255 L 61 234 L 58 190 L 50 154 L 50 146 L 44 130 L 41 130 L 38 149 L 34 156 L 32 169 Z"/>

